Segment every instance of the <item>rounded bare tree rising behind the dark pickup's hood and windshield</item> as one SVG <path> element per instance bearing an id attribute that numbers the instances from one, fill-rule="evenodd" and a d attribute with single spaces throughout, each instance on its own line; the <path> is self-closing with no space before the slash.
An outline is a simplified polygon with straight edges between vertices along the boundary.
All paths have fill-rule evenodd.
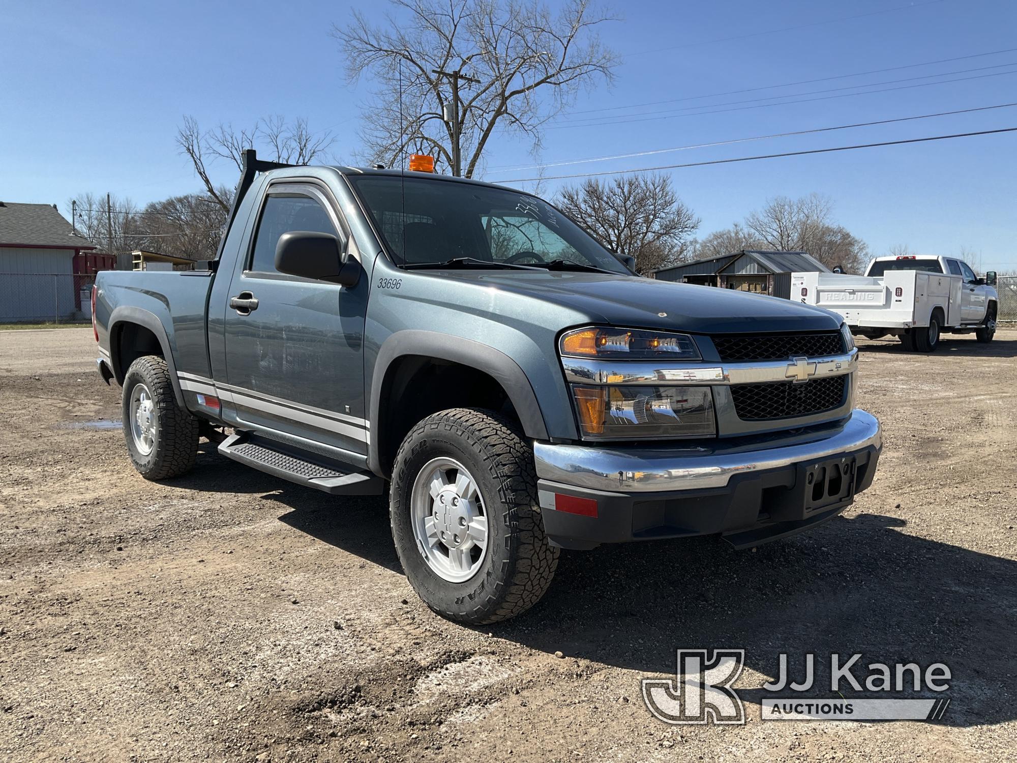
<path id="1" fill-rule="evenodd" d="M 687 259 L 700 225 L 668 175 L 590 179 L 562 188 L 558 206 L 605 247 L 635 256 L 643 276 Z"/>

